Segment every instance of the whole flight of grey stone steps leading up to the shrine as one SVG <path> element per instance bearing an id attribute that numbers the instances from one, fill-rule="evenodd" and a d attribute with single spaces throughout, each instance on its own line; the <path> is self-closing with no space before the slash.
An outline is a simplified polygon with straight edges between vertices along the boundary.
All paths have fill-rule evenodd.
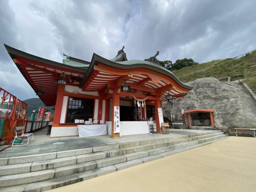
<path id="1" fill-rule="evenodd" d="M 0 158 L 0 191 L 45 191 L 191 150 L 225 137 L 220 131 L 206 131 L 175 138 Z"/>

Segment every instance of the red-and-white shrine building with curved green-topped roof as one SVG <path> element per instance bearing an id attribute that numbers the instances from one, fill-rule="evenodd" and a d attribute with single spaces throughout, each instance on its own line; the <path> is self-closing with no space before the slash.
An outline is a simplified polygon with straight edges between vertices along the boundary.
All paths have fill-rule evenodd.
<path id="1" fill-rule="evenodd" d="M 36 95 L 46 106 L 55 106 L 50 137 L 78 136 L 79 125 L 90 126 L 89 136 L 146 134 L 148 120 L 160 132 L 162 101 L 184 97 L 192 89 L 161 67 L 159 52 L 127 60 L 123 47 L 112 59 L 94 53 L 85 61 L 64 54 L 60 63 L 5 47 Z M 97 130 L 100 124 L 105 130 Z"/>

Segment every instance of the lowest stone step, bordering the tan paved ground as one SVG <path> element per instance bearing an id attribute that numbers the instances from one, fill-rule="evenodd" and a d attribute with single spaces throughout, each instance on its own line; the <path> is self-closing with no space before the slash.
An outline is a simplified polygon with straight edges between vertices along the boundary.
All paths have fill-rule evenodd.
<path id="1" fill-rule="evenodd" d="M 203 145 L 206 145 L 206 144 L 210 144 L 212 142 L 216 142 L 216 141 L 219 141 L 219 140 L 222 140 L 222 139 L 225 139 L 225 138 L 226 138 L 226 135 L 218 135 L 218 136 L 213 137 L 212 140 L 210 140 L 210 141 L 206 141 L 206 139 L 202 139 L 205 142 L 199 143 L 199 144 L 193 144 L 193 143 L 196 143 L 196 142 L 192 141 L 193 143 L 191 143 L 191 144 L 193 144 L 193 145 L 178 148 L 176 150 L 167 151 L 167 152 L 152 155 L 152 156 L 140 157 L 138 159 L 134 159 L 134 160 L 126 161 L 126 162 L 121 162 L 121 163 L 117 163 L 117 164 L 114 164 L 114 165 L 105 166 L 105 167 L 101 167 L 101 168 L 94 168 L 94 169 L 91 169 L 91 170 L 87 170 L 87 171 L 80 172 L 80 173 L 75 173 L 75 174 L 68 175 L 68 176 L 65 176 L 65 177 L 52 178 L 52 179 L 48 179 L 48 180 L 45 180 L 45 181 L 22 184 L 22 185 L 17 185 L 17 186 L 3 187 L 3 188 L 0 188 L 0 190 L 2 192 L 7 192 L 7 191 L 8 192 L 12 192 L 12 191 L 15 191 L 15 192 L 19 192 L 19 191 L 20 192 L 21 191 L 26 191 L 26 192 L 28 192 L 28 191 L 45 191 L 45 190 L 49 190 L 49 189 L 53 189 L 53 188 L 73 184 L 73 183 L 76 183 L 76 182 L 92 179 L 94 177 L 102 176 L 102 175 L 105 175 L 105 174 L 108 174 L 108 173 L 115 172 L 116 170 L 121 170 L 121 169 L 124 169 L 124 168 L 128 168 L 128 167 L 131 167 L 131 166 L 141 164 L 141 163 L 149 162 L 149 161 L 156 160 L 156 159 L 159 159 L 159 158 L 163 158 L 163 157 L 167 157 L 167 156 L 174 155 L 174 154 L 177 154 L 177 153 L 181 153 L 181 152 L 184 152 L 184 151 L 188 151 L 188 150 L 191 150 L 193 148 L 200 147 L 200 146 L 203 146 Z M 179 144 L 176 144 L 176 145 L 179 145 Z M 137 157 L 139 157 L 139 155 L 142 155 L 142 154 L 145 155 L 148 152 L 136 152 L 136 153 L 137 153 Z M 134 154 L 136 154 L 136 153 L 134 153 Z M 125 156 L 131 156 L 131 155 L 132 154 L 127 154 Z M 111 158 L 113 158 L 113 157 L 111 157 Z M 49 170 L 47 170 L 47 171 L 49 171 Z M 48 173 L 48 174 L 51 174 L 51 173 Z M 12 181 L 13 180 L 15 181 L 15 179 L 17 179 L 17 177 L 10 178 L 10 179 L 12 179 Z M 36 180 L 36 179 L 33 179 L 33 180 Z M 2 185 L 1 181 L 0 181 L 0 186 L 6 186 L 6 185 Z M 18 182 L 16 181 L 16 183 L 18 183 Z"/>

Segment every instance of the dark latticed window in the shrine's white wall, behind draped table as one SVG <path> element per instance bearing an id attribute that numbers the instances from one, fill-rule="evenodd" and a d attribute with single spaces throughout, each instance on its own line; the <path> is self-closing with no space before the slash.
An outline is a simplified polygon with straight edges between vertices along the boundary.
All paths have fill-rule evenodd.
<path id="1" fill-rule="evenodd" d="M 75 123 L 75 119 L 88 121 L 93 118 L 94 99 L 70 97 L 66 123 Z"/>

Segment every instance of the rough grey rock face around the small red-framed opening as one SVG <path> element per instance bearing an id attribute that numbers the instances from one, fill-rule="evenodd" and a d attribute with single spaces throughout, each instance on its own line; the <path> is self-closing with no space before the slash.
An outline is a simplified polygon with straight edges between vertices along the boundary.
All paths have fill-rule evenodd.
<path id="1" fill-rule="evenodd" d="M 163 102 L 163 116 L 182 121 L 181 109 L 213 109 L 214 122 L 219 129 L 256 127 L 256 102 L 236 81 L 221 82 L 216 78 L 201 78 L 187 83 L 193 87 L 188 95 L 173 102 Z"/>

